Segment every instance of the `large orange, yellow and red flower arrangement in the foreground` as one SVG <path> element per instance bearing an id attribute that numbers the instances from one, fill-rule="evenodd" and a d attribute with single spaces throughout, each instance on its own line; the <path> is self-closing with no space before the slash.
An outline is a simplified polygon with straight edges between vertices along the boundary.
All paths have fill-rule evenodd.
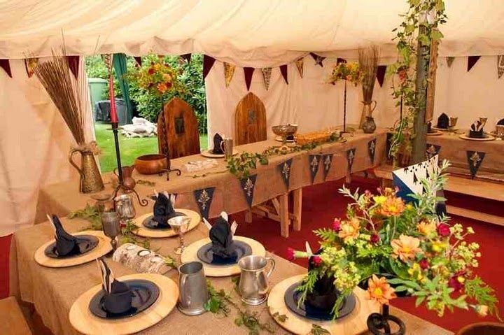
<path id="1" fill-rule="evenodd" d="M 426 192 L 413 194 L 414 204 L 405 204 L 391 188 L 378 189 L 377 194 L 351 193 L 346 187 L 339 190 L 352 202 L 346 218 L 314 231 L 321 238 L 318 254 L 309 248 L 306 252 L 288 250 L 289 257 L 310 257 L 315 265 L 298 289 L 300 303 L 318 279 L 329 276 L 339 292 L 334 314 L 359 285 L 379 304 L 410 295 L 416 297 L 416 306 L 425 303 L 440 316 L 446 308 L 456 307 L 499 318 L 493 289 L 475 274 L 479 245 L 465 241 L 473 229 L 450 225 L 449 218 L 435 211 L 442 200 L 435 194 L 446 182 L 448 166 L 442 162 L 421 180 Z"/>

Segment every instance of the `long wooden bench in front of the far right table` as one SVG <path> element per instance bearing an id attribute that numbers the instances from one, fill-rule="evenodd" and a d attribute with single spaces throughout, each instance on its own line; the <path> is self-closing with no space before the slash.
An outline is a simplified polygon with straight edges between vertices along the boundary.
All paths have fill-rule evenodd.
<path id="1" fill-rule="evenodd" d="M 381 185 L 385 186 L 386 180 L 392 180 L 392 171 L 394 169 L 391 165 L 380 165 L 374 169 L 374 175 L 380 178 Z M 449 176 L 446 185 L 444 185 L 444 190 L 504 202 L 504 185 L 489 181 Z M 471 218 L 504 226 L 504 218 L 502 216 L 450 205 L 447 205 L 447 211 L 449 214 L 462 216 L 463 218 Z"/>

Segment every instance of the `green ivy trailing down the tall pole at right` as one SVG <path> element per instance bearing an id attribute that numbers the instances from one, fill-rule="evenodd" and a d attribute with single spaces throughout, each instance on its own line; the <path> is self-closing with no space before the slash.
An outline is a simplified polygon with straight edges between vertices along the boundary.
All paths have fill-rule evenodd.
<path id="1" fill-rule="evenodd" d="M 394 126 L 391 138 L 391 148 L 389 157 L 397 159 L 398 153 L 404 150 L 405 153 L 412 152 L 412 139 L 414 138 L 414 120 L 419 111 L 425 106 L 425 99 L 417 97 L 416 92 L 426 92 L 427 80 L 424 80 L 422 87 L 416 89 L 416 66 L 417 57 L 426 59 L 428 67 L 430 59 L 430 45 L 438 42 L 443 37 L 441 31 L 437 29 L 440 24 L 446 23 L 447 15 L 444 13 L 443 0 L 407 0 L 409 10 L 401 15 L 404 22 L 400 27 L 393 29 L 397 31 L 393 40 L 397 41 L 398 61 L 388 66 L 388 74 L 398 74 L 399 83 L 393 83 L 393 98 L 397 100 L 396 106 L 402 104 L 406 108 L 406 113 L 402 120 L 398 120 Z M 421 47 L 419 49 L 419 46 Z M 418 53 L 421 52 L 421 55 Z M 428 71 L 428 68 L 424 69 Z"/>

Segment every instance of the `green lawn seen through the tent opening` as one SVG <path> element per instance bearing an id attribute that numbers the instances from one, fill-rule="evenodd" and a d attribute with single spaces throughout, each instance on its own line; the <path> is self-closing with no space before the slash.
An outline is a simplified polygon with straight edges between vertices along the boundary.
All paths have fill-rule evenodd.
<path id="1" fill-rule="evenodd" d="M 94 131 L 96 132 L 96 141 L 102 154 L 99 155 L 100 166 L 102 172 L 112 171 L 116 164 L 116 148 L 114 148 L 113 133 L 110 129 L 110 124 L 95 123 Z M 134 159 L 147 154 L 158 153 L 158 138 L 125 138 L 119 136 L 119 145 L 121 153 L 121 163 L 123 165 L 132 165 Z M 207 149 L 207 135 L 200 136 L 200 146 L 202 150 Z"/>

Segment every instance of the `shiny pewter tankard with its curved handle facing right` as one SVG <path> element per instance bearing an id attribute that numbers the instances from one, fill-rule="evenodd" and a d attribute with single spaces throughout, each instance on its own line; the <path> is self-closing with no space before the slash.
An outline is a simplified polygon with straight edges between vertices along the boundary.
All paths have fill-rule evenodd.
<path id="1" fill-rule="evenodd" d="M 269 269 L 267 269 L 268 263 Z M 250 255 L 241 258 L 238 266 L 241 270 L 238 285 L 241 301 L 248 305 L 260 305 L 265 302 L 269 291 L 268 279 L 275 268 L 274 259 Z"/>

